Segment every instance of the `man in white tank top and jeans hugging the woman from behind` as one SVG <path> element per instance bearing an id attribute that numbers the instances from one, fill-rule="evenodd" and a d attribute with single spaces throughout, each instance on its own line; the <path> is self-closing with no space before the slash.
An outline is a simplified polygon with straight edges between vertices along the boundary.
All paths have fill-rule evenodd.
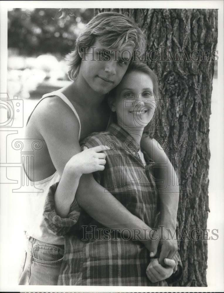
<path id="1" fill-rule="evenodd" d="M 99 56 L 105 49 L 109 50 L 109 60 L 102 60 Z M 33 139 L 40 139 L 43 148 L 35 151 L 34 178 L 30 175 L 31 165 L 24 166 L 28 176 L 26 180 L 34 181 L 31 185 L 35 189 L 25 195 L 28 206 L 27 247 L 25 263 L 21 266 L 20 285 L 57 283 L 64 239 L 52 233 L 44 222 L 45 197 L 49 187 L 60 180 L 69 159 L 81 151 L 79 142 L 92 132 L 106 129 L 110 109 L 105 95 L 121 81 L 133 50 L 142 52 L 144 49 L 144 35 L 130 18 L 115 12 L 98 14 L 86 25 L 74 51 L 68 56 L 69 76 L 73 82 L 66 88 L 44 95 L 31 114 L 26 127 L 27 147 Z M 167 156 L 158 149 L 154 140 L 145 139 L 143 145 L 149 156 L 153 151 L 155 161 L 167 162 Z M 161 170 L 158 177 L 166 184 L 164 171 Z M 39 193 L 36 188 L 39 188 Z M 166 191 L 170 193 L 160 194 L 160 223 L 172 230 L 176 228 L 178 187 L 170 187 Z M 113 228 L 128 228 L 133 223 L 141 231 L 148 228 L 113 195 L 103 195 L 104 188 L 91 173 L 81 176 L 76 199 L 91 217 L 108 227 L 113 223 Z M 160 243 L 161 258 L 174 255 L 177 250 L 175 241 Z M 150 239 L 147 239 L 145 245 L 156 253 L 158 242 L 154 241 L 151 245 Z"/>

